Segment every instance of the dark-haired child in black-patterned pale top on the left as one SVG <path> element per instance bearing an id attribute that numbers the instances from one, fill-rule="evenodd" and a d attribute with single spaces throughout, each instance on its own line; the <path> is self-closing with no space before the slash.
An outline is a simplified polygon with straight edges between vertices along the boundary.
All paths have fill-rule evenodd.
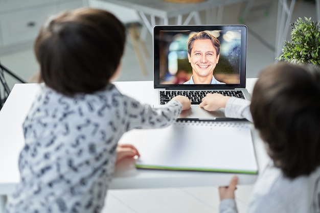
<path id="1" fill-rule="evenodd" d="M 123 24 L 98 9 L 63 12 L 43 25 L 34 51 L 44 86 L 23 124 L 21 181 L 6 212 L 100 212 L 120 137 L 168 126 L 190 107 L 179 96 L 154 109 L 110 83 L 121 69 L 125 37 Z M 119 151 L 119 158 L 139 155 L 129 145 Z"/>

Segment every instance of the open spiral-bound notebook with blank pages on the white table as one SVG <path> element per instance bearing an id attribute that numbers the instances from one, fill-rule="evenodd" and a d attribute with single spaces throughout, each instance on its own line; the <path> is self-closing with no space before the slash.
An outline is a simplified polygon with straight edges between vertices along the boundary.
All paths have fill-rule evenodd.
<path id="1" fill-rule="evenodd" d="M 258 173 L 250 126 L 245 123 L 176 122 L 145 130 L 139 152 L 136 167 L 142 169 Z"/>

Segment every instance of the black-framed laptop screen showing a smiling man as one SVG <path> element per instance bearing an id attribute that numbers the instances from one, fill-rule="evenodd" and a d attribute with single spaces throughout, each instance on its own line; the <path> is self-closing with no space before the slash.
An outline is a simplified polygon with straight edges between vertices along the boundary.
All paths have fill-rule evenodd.
<path id="1" fill-rule="evenodd" d="M 154 88 L 245 87 L 244 25 L 155 26 Z"/>

